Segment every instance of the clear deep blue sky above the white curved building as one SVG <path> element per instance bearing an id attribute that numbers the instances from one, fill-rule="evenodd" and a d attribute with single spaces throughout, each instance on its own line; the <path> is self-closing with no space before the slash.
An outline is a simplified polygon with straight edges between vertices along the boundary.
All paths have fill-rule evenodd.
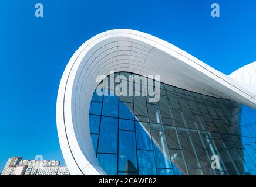
<path id="1" fill-rule="evenodd" d="M 42 2 L 45 17 L 35 18 Z M 220 18 L 211 18 L 211 4 Z M 0 2 L 0 171 L 9 157 L 63 161 L 56 97 L 72 54 L 90 37 L 127 28 L 153 34 L 230 74 L 256 60 L 256 2 L 235 0 Z"/>

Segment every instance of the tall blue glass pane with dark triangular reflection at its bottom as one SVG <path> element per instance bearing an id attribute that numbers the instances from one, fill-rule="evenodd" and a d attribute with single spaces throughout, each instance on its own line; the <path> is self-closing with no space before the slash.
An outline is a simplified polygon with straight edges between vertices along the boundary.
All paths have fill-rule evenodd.
<path id="1" fill-rule="evenodd" d="M 121 172 L 137 172 L 136 141 L 134 132 L 119 130 L 118 170 Z"/>

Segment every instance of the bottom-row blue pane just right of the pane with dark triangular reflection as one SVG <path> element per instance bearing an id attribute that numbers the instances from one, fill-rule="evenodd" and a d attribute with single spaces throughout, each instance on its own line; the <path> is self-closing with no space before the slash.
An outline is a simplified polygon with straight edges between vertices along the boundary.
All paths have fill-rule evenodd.
<path id="1" fill-rule="evenodd" d="M 138 150 L 137 153 L 140 175 L 156 175 L 153 151 Z"/>

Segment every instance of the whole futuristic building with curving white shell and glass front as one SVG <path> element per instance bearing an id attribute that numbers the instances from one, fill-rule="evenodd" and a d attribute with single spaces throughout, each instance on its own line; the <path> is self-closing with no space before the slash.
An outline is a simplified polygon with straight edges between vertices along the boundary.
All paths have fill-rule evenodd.
<path id="1" fill-rule="evenodd" d="M 136 30 L 116 29 L 97 34 L 95 37 L 87 40 L 81 47 L 79 47 L 75 54 L 73 54 L 72 58 L 70 58 L 70 61 L 66 66 L 65 71 L 63 72 L 58 91 L 58 99 L 56 105 L 58 136 L 60 147 L 62 149 L 65 162 L 68 165 L 70 174 L 148 174 L 143 173 L 144 160 L 141 158 L 141 156 L 149 155 L 148 158 L 151 159 L 152 153 L 152 155 L 154 155 L 154 158 L 152 157 L 152 160 L 154 160 L 152 163 L 154 163 L 153 165 L 155 165 L 155 168 L 149 174 L 153 175 L 254 175 L 256 171 L 255 165 L 252 166 L 247 164 L 247 161 L 245 161 L 244 150 L 248 152 L 250 157 L 256 157 L 255 146 L 252 143 L 256 141 L 256 137 L 254 134 L 244 135 L 242 127 L 246 125 L 250 127 L 252 126 L 253 129 L 251 130 L 254 131 L 254 125 L 256 125 L 254 124 L 256 122 L 256 117 L 250 121 L 250 124 L 246 123 L 245 125 L 242 120 L 239 120 L 238 122 L 237 119 L 241 118 L 240 113 L 242 112 L 237 112 L 237 110 L 239 109 L 239 111 L 242 111 L 241 105 L 250 107 L 251 112 L 254 112 L 254 109 L 256 109 L 255 70 L 256 65 L 255 63 L 252 63 L 245 66 L 244 68 L 241 68 L 240 70 L 235 71 L 230 76 L 225 75 L 217 70 L 214 70 L 214 68 L 191 56 L 185 51 L 178 49 L 178 47 L 173 46 L 172 44 L 167 43 L 166 41 L 163 41 L 157 37 L 151 36 L 150 34 L 138 32 Z M 100 112 L 98 114 L 90 112 L 90 107 L 92 108 L 91 101 L 93 99 L 93 93 L 95 93 L 95 90 L 99 84 L 96 82 L 96 78 L 99 75 L 108 76 L 110 71 L 129 72 L 132 74 L 145 76 L 160 75 L 160 82 L 163 86 L 161 91 L 164 92 L 163 99 L 166 98 L 169 101 L 167 108 L 170 108 L 170 114 L 169 112 L 166 114 L 162 113 L 163 111 L 161 110 L 161 101 L 163 100 L 160 99 L 158 105 L 160 108 L 159 113 L 161 114 L 161 120 L 154 122 L 154 120 L 150 118 L 150 111 L 144 116 L 147 118 L 147 125 L 149 125 L 150 130 L 147 131 L 147 128 L 145 127 L 143 130 L 146 131 L 147 136 L 150 137 L 150 141 L 153 142 L 153 147 L 151 146 L 147 152 L 143 152 L 143 148 L 138 148 L 139 140 L 136 139 L 136 143 L 134 143 L 136 146 L 136 150 L 134 151 L 134 155 L 136 154 L 136 159 L 133 159 L 133 156 L 130 155 L 122 155 L 121 157 L 121 154 L 125 153 L 120 153 L 120 150 L 122 150 L 122 145 L 120 145 L 120 140 L 122 140 L 122 137 L 120 136 L 120 130 L 122 130 L 120 129 L 120 102 L 122 101 L 118 99 L 119 110 L 117 109 L 118 114 L 116 117 L 111 115 L 109 116 L 109 114 L 104 114 L 104 112 Z M 167 87 L 170 88 L 169 86 L 171 86 L 171 89 L 175 88 L 175 92 L 167 89 Z M 172 93 L 175 93 L 174 95 L 177 97 L 177 102 L 179 105 L 178 108 L 175 109 L 174 105 L 171 104 L 173 101 L 170 99 Z M 196 106 L 199 108 L 198 112 L 191 108 L 190 103 L 194 101 L 194 98 L 191 98 L 192 100 L 190 101 L 189 96 L 196 97 L 195 102 L 198 102 L 198 98 L 202 100 L 203 104 L 199 101 L 200 104 L 197 104 L 198 107 Z M 188 100 L 185 101 L 183 97 L 185 97 L 185 100 Z M 208 105 L 206 97 L 209 98 L 209 101 L 211 102 L 210 105 L 213 105 L 213 107 Z M 216 99 L 214 98 L 217 98 L 217 101 L 221 101 L 223 103 L 230 101 L 231 104 L 228 104 L 226 107 L 224 104 L 221 104 L 221 102 L 215 102 Z M 101 100 L 101 102 L 99 102 L 102 108 L 104 108 L 104 102 L 105 100 Z M 189 105 L 184 104 L 183 102 L 186 102 Z M 129 102 L 124 102 L 124 105 L 126 106 L 127 103 Z M 133 111 L 135 112 L 136 110 L 135 98 L 133 98 L 131 103 L 133 108 L 131 109 L 130 105 L 127 105 L 127 108 L 129 108 L 129 110 L 133 113 Z M 145 105 L 148 110 L 150 110 L 151 105 L 149 103 Z M 184 115 L 184 113 L 186 113 L 186 109 L 183 107 L 183 105 L 190 106 L 190 119 L 188 119 L 188 116 Z M 104 110 L 102 108 L 101 110 Z M 208 112 L 204 113 L 203 108 L 206 108 Z M 224 111 L 226 108 L 228 108 L 227 110 L 229 112 Z M 227 115 L 227 113 L 230 113 L 230 108 L 232 108 L 231 113 L 236 111 L 235 122 L 230 118 L 230 116 L 224 116 Z M 214 112 L 212 112 L 213 110 L 211 109 L 213 109 Z M 221 115 L 221 112 L 218 112 L 218 109 L 223 111 L 224 115 Z M 173 111 L 178 111 L 177 113 L 179 115 L 181 114 L 182 119 L 175 118 Z M 214 113 L 216 113 L 216 115 L 214 115 Z M 100 135 L 100 131 L 103 131 L 103 129 L 99 128 L 97 133 L 92 133 L 92 126 L 90 126 L 89 123 L 89 119 L 91 117 L 90 115 L 92 115 L 92 117 L 97 116 L 100 118 L 100 125 L 102 125 L 102 128 L 105 127 L 105 124 L 102 124 L 103 119 L 106 119 L 107 117 L 113 117 L 114 120 L 119 120 L 119 122 L 117 122 L 117 126 L 114 127 L 117 127 L 117 134 L 113 136 L 117 137 L 117 144 L 113 146 L 113 153 L 111 152 L 113 157 L 105 157 L 106 154 L 110 154 L 107 153 L 107 150 L 105 150 L 106 152 L 103 151 L 104 153 L 99 151 L 102 144 L 100 137 L 103 136 Z M 144 122 L 142 124 L 139 120 L 139 117 L 142 116 L 136 115 L 136 112 L 133 113 L 133 115 L 134 121 L 139 121 L 140 126 L 143 126 Z M 207 119 L 207 115 L 208 117 L 212 115 L 210 120 Z M 199 122 L 200 120 L 197 120 L 197 117 L 200 116 L 203 117 L 204 120 L 202 124 Z M 173 125 L 169 122 L 168 124 L 164 124 L 165 122 L 163 121 L 167 119 L 173 121 Z M 227 121 L 225 119 L 231 120 L 225 122 Z M 188 122 L 191 121 L 193 121 L 195 127 L 189 126 L 190 123 Z M 163 126 L 163 132 L 165 134 L 164 141 L 167 142 L 165 145 L 167 148 L 161 147 L 163 146 L 162 139 L 161 143 L 159 143 L 160 140 L 157 141 L 157 138 L 153 137 L 154 129 L 151 127 L 153 122 Z M 183 123 L 184 127 L 182 125 L 178 126 L 178 124 L 175 122 Z M 218 122 L 221 122 L 223 127 L 218 126 Z M 202 126 L 202 128 L 200 127 L 201 129 L 198 127 L 199 123 L 200 126 Z M 168 128 L 169 126 L 173 128 L 171 130 L 176 132 L 177 141 L 179 144 L 178 148 L 173 148 L 171 146 L 171 140 L 173 139 L 170 141 L 167 140 L 170 134 L 168 134 L 165 129 L 166 125 L 168 125 Z M 208 129 L 203 129 L 204 125 Z M 210 126 L 212 126 L 212 128 Z M 221 128 L 224 129 L 224 126 L 225 131 L 222 131 Z M 240 130 L 232 133 L 227 130 L 227 128 L 231 127 L 233 129 L 238 128 Z M 183 133 L 180 134 L 181 130 L 186 130 L 187 133 L 184 134 L 187 135 L 184 135 Z M 200 138 L 202 134 L 206 133 L 206 131 L 209 133 L 206 136 L 206 141 L 201 138 L 203 146 L 202 149 L 199 149 L 198 145 L 194 143 L 194 139 L 192 138 L 193 134 L 190 134 L 192 131 L 200 134 L 198 135 Z M 130 133 L 132 133 L 132 137 L 139 137 L 139 133 L 136 130 L 132 130 Z M 231 158 L 232 153 L 226 154 L 227 151 L 231 150 L 232 146 L 228 147 L 225 145 L 223 147 L 225 151 L 220 151 L 220 148 L 218 148 L 217 145 L 217 141 L 215 142 L 214 139 L 215 134 L 218 134 L 218 136 L 222 138 L 221 140 L 223 142 L 227 141 L 227 144 L 233 144 L 235 150 L 239 152 L 239 154 L 241 145 L 244 145 L 244 142 L 241 139 L 244 137 L 250 138 L 249 141 L 252 144 L 245 144 L 244 147 L 248 147 L 248 145 L 251 145 L 251 147 L 248 147 L 248 150 L 245 148 L 243 151 L 241 151 L 242 154 L 240 154 L 240 160 L 233 160 L 233 158 Z M 227 134 L 230 134 L 231 138 L 234 136 L 240 139 L 241 145 L 235 147 L 233 139 L 225 140 L 223 137 Z M 93 144 L 92 135 L 98 137 L 96 147 L 95 144 Z M 183 137 L 189 138 L 190 143 L 183 143 Z M 213 144 L 206 143 L 211 139 L 214 140 Z M 144 140 L 146 141 L 146 137 L 144 137 L 142 142 Z M 184 141 L 185 140 L 186 138 L 184 138 Z M 188 146 L 188 144 L 191 145 Z M 158 152 L 156 152 L 154 147 L 157 147 L 157 149 L 160 150 L 157 150 L 159 155 L 161 155 L 160 157 L 163 157 L 163 159 L 166 160 L 166 165 L 163 167 L 160 166 L 161 163 L 159 159 L 156 158 Z M 200 157 L 200 151 L 197 150 L 203 150 L 205 155 Z M 252 154 L 251 150 L 254 151 L 254 154 Z M 191 151 L 193 153 L 190 153 Z M 221 154 L 224 154 L 224 152 L 225 155 L 230 157 L 230 161 L 224 161 L 225 155 L 223 155 L 221 167 L 217 170 L 212 169 L 209 164 L 211 155 L 220 154 L 221 157 Z M 123 161 L 122 159 L 126 157 L 132 157 L 131 159 L 129 158 L 128 161 L 126 160 L 126 162 L 128 164 L 128 168 L 129 163 L 133 162 L 132 165 L 134 169 L 129 170 L 127 167 L 126 169 L 121 167 L 121 165 L 123 165 L 121 163 Z M 105 158 L 110 159 L 112 165 L 106 165 L 107 160 Z M 250 161 L 250 163 L 251 162 L 254 161 Z M 116 172 L 109 170 L 109 168 L 113 168 L 113 166 L 114 168 L 116 167 Z"/>

